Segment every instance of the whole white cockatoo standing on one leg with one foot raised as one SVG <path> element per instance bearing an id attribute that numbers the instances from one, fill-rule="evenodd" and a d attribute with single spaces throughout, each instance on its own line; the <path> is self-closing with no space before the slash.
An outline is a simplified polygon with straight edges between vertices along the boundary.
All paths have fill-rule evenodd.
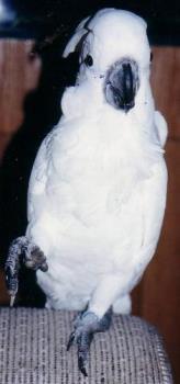
<path id="1" fill-rule="evenodd" d="M 10 246 L 5 269 L 14 296 L 23 253 L 38 269 L 48 308 L 82 310 L 68 347 L 78 345 L 86 374 L 92 334 L 110 326 L 112 310 L 130 313 L 130 292 L 156 250 L 167 125 L 154 105 L 143 19 L 103 9 L 79 24 L 64 57 L 75 50 L 76 84 L 65 89 L 63 116 L 37 153 L 26 234 Z"/>

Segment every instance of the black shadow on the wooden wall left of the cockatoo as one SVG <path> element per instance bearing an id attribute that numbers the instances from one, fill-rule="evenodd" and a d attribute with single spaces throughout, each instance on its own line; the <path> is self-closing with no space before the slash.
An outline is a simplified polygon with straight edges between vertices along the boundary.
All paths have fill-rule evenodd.
<path id="1" fill-rule="evenodd" d="M 61 58 L 63 38 L 41 49 L 38 88 L 24 102 L 24 122 L 8 146 L 0 169 L 0 255 L 3 267 L 12 239 L 25 234 L 27 185 L 37 149 L 61 111 L 64 88 L 75 83 L 78 55 Z M 19 305 L 44 306 L 45 297 L 35 282 L 35 272 L 22 269 Z"/>

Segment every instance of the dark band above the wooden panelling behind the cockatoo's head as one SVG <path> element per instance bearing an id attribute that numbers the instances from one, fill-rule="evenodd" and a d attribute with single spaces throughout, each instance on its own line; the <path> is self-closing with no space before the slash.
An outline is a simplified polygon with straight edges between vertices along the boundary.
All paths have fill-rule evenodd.
<path id="1" fill-rule="evenodd" d="M 162 0 L 2 0 L 16 13 L 16 26 L 9 32 L 1 29 L 1 35 L 40 36 L 50 34 L 56 29 L 74 30 L 83 16 L 100 8 L 117 7 L 144 16 L 148 22 L 148 34 L 153 44 L 179 44 L 180 2 Z"/>

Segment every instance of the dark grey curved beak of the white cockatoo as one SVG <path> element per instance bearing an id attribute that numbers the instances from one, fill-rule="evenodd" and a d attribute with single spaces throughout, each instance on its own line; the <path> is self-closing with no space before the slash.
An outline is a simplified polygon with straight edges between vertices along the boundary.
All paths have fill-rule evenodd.
<path id="1" fill-rule="evenodd" d="M 124 58 L 110 68 L 104 93 L 108 103 L 112 106 L 127 113 L 135 105 L 138 88 L 138 66 L 135 60 Z"/>

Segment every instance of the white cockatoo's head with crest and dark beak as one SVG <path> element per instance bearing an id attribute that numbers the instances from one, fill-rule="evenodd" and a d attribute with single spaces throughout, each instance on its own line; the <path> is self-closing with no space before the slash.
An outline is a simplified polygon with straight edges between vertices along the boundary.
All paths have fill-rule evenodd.
<path id="1" fill-rule="evenodd" d="M 104 9 L 83 20 L 64 57 L 79 52 L 77 84 L 100 79 L 104 100 L 128 112 L 143 76 L 149 76 L 150 48 L 145 21 L 127 11 Z"/>

